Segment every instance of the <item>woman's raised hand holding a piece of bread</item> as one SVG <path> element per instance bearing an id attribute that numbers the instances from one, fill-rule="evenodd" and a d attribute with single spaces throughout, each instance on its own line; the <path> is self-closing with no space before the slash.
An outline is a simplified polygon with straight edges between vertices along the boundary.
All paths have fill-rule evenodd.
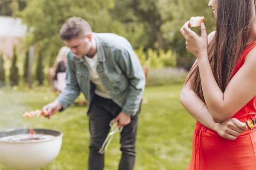
<path id="1" fill-rule="evenodd" d="M 180 29 L 180 33 L 186 39 L 186 49 L 191 52 L 197 59 L 200 59 L 201 54 L 207 54 L 208 36 L 204 23 L 201 24 L 201 37 L 194 31 L 189 29 L 189 21 Z"/>

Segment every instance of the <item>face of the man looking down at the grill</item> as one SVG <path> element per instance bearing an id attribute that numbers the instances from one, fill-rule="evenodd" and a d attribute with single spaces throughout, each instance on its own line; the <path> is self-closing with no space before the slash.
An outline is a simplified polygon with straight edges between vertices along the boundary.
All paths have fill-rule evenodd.
<path id="1" fill-rule="evenodd" d="M 67 47 L 70 48 L 73 54 L 76 54 L 76 58 L 84 57 L 91 49 L 91 34 L 87 34 L 81 38 L 73 38 L 71 40 L 64 40 Z"/>

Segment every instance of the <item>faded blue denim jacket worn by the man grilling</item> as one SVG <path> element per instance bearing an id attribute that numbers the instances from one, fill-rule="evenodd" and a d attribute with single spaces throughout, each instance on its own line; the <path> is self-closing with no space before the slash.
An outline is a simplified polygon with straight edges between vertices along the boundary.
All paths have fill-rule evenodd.
<path id="1" fill-rule="evenodd" d="M 145 89 L 145 75 L 131 44 L 112 33 L 93 33 L 93 37 L 97 43 L 97 72 L 102 85 L 122 112 L 135 115 Z M 71 105 L 80 92 L 90 104 L 95 87 L 89 79 L 86 60 L 69 52 L 66 74 L 66 88 L 56 98 L 62 105 L 60 111 Z"/>

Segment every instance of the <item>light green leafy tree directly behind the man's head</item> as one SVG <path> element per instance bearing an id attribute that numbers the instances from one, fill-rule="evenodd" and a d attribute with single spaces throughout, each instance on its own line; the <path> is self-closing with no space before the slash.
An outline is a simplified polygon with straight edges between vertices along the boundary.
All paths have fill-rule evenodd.
<path id="1" fill-rule="evenodd" d="M 120 28 L 122 25 L 108 14 L 108 8 L 113 8 L 113 5 L 113 0 L 29 0 L 20 17 L 28 28 L 33 29 L 29 34 L 29 45 L 42 42 L 49 56 L 56 56 L 64 45 L 59 30 L 69 17 L 84 18 L 94 32 L 125 34 Z"/>

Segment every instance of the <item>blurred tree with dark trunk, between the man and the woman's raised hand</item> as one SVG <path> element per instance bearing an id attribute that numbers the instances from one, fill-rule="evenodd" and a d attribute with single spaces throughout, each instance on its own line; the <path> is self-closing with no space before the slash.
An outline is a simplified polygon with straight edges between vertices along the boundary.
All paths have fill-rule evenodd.
<path id="1" fill-rule="evenodd" d="M 143 23 L 145 36 L 150 39 L 151 43 L 148 48 L 154 48 L 157 42 L 157 48 L 165 47 L 163 31 L 161 29 L 165 20 L 160 13 L 158 6 L 160 0 L 115 0 L 116 7 L 111 11 L 112 16 L 125 24 Z M 145 36 L 144 39 L 145 39 Z"/>

